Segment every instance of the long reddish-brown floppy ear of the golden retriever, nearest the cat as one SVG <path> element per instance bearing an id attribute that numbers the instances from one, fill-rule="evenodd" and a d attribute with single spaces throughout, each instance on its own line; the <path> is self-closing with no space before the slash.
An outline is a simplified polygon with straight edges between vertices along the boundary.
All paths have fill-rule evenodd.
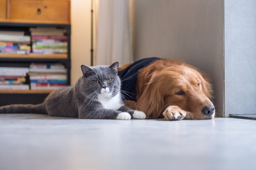
<path id="1" fill-rule="evenodd" d="M 162 96 L 162 87 L 160 84 L 152 82 L 143 82 L 142 89 L 140 89 L 137 96 L 137 103 L 135 108 L 139 111 L 144 111 L 147 118 L 158 118 L 165 107 L 165 101 Z"/>

